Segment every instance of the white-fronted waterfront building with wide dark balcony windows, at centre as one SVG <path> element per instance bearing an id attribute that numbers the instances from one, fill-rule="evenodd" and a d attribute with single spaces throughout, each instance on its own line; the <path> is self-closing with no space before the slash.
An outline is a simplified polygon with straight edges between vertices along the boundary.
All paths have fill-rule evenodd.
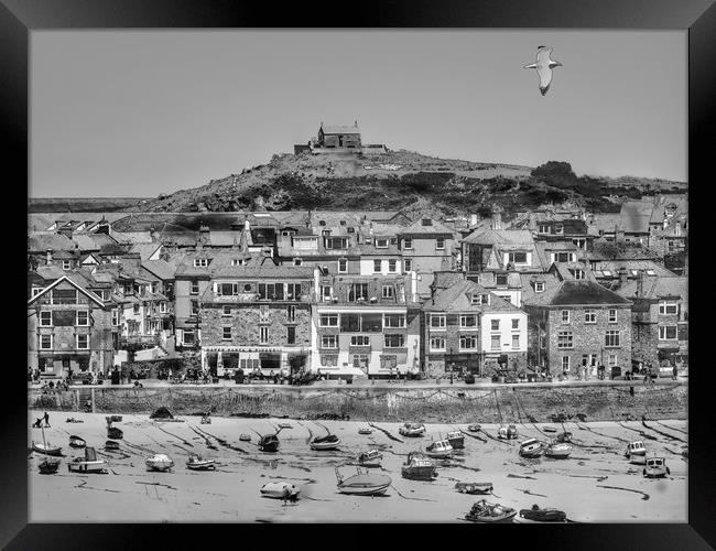
<path id="1" fill-rule="evenodd" d="M 312 370 L 329 377 L 417 372 L 420 303 L 416 277 L 317 278 L 312 315 Z"/>

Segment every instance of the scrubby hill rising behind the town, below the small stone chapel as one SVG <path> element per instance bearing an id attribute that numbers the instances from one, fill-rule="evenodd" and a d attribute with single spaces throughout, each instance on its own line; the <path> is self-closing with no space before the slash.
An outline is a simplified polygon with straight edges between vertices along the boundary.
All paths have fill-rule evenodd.
<path id="1" fill-rule="evenodd" d="M 661 180 L 577 177 L 568 163 L 520 165 L 437 159 L 409 151 L 381 154 L 276 154 L 208 184 L 132 205 L 132 212 L 246 209 L 391 210 L 432 206 L 446 215 L 533 209 L 569 202 L 618 212 L 627 198 L 685 193 Z"/>

